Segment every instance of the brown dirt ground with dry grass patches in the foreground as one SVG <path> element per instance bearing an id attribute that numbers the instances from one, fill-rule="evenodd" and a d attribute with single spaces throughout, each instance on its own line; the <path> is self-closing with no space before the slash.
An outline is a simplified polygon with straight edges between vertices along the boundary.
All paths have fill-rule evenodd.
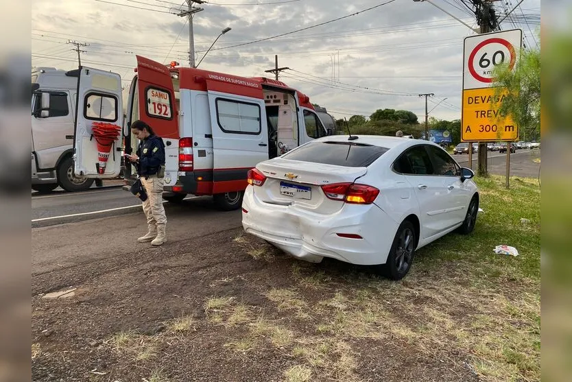
<path id="1" fill-rule="evenodd" d="M 451 344 L 472 340 L 499 295 L 430 260 L 393 283 L 374 267 L 296 261 L 237 228 L 38 274 L 32 377 L 478 381 L 472 347 Z"/>

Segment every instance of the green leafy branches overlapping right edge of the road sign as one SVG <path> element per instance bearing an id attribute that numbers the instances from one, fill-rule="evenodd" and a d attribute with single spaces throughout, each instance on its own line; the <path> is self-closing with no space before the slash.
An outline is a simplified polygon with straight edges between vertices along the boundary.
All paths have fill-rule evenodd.
<path id="1" fill-rule="evenodd" d="M 501 115 L 511 115 L 525 139 L 540 135 L 540 50 L 523 50 L 514 70 L 494 68 L 495 104 Z M 505 93 L 505 89 L 507 93 Z M 501 97 L 502 102 L 500 102 Z"/>

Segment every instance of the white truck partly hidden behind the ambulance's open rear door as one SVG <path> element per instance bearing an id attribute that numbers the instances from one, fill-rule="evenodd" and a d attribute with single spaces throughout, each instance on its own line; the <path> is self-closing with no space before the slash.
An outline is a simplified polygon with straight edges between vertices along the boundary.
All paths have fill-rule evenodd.
<path id="1" fill-rule="evenodd" d="M 82 191 L 93 179 L 73 173 L 73 124 L 78 77 L 53 67 L 32 68 L 32 189 Z"/>

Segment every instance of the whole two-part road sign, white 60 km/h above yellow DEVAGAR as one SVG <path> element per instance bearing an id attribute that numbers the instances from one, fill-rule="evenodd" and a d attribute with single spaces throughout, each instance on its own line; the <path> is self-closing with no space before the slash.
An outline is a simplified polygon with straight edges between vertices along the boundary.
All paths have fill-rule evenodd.
<path id="1" fill-rule="evenodd" d="M 508 90 L 495 86 L 494 67 L 514 70 L 521 48 L 522 30 L 479 34 L 465 38 L 461 140 L 514 141 L 519 127 L 500 105 Z"/>

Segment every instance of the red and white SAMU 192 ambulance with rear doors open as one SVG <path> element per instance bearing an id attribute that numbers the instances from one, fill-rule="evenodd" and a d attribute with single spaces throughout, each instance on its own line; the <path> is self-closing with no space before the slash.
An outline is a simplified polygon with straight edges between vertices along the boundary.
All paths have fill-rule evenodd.
<path id="1" fill-rule="evenodd" d="M 230 211 L 241 206 L 247 172 L 257 163 L 333 134 L 309 97 L 281 81 L 136 58 L 124 114 L 117 73 L 78 69 L 73 146 L 77 176 L 120 174 L 121 156 L 138 145 L 130 125 L 141 119 L 165 142 L 163 198 L 180 202 L 187 194 L 212 195 L 220 209 Z M 92 127 L 98 122 L 122 129 L 108 153 L 98 152 L 95 143 Z M 126 179 L 134 179 L 132 165 L 123 171 Z"/>

